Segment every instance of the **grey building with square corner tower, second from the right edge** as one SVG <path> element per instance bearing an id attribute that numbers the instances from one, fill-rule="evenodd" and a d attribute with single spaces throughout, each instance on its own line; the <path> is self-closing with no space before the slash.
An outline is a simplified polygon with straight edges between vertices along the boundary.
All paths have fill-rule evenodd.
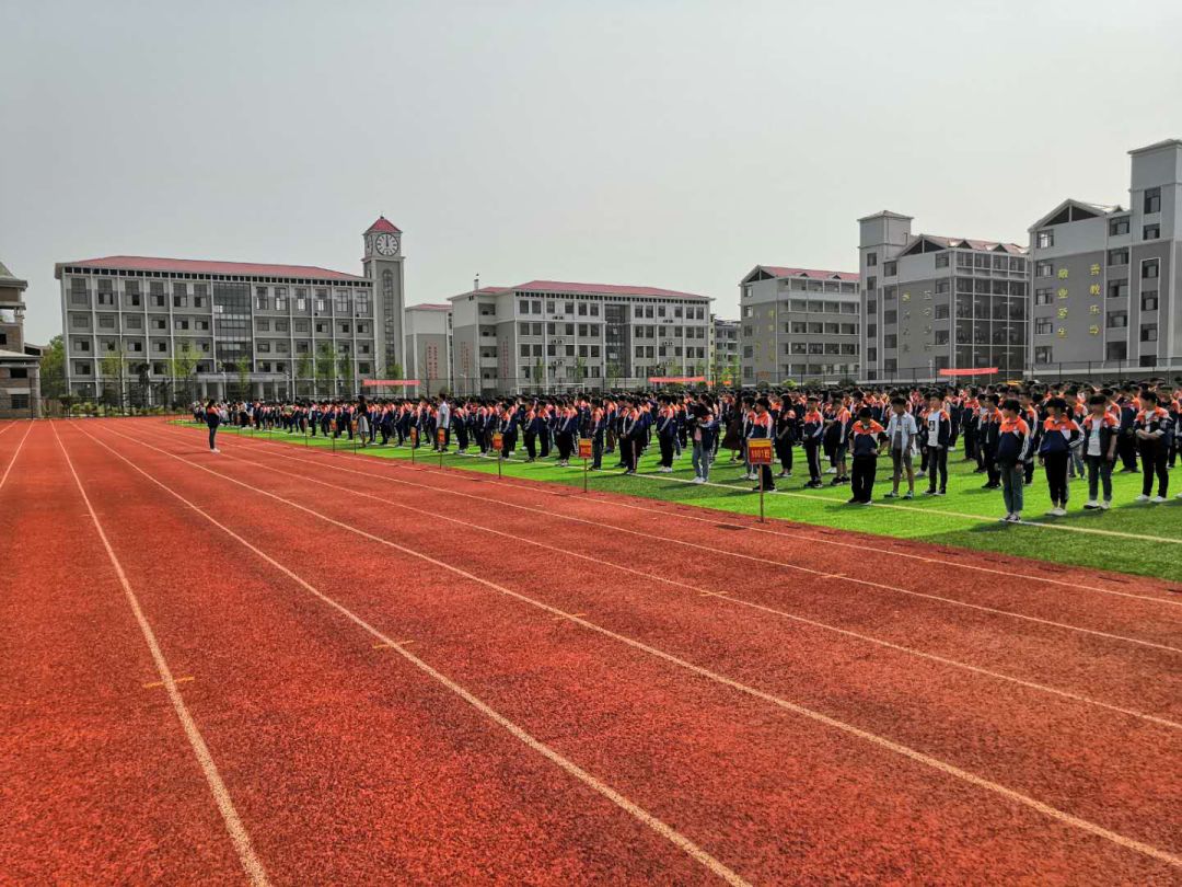
<path id="1" fill-rule="evenodd" d="M 862 376 L 936 378 L 940 370 L 1026 367 L 1026 248 L 994 240 L 913 234 L 911 216 L 858 220 Z"/>

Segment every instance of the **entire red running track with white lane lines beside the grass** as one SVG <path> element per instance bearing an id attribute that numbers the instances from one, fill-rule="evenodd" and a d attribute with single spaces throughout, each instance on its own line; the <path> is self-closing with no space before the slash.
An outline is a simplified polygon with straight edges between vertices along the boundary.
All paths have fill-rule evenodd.
<path id="1" fill-rule="evenodd" d="M 1161 584 L 1015 595 L 1030 562 L 152 421 L 17 454 L 27 428 L 0 430 L 19 880 L 1182 882 Z"/>

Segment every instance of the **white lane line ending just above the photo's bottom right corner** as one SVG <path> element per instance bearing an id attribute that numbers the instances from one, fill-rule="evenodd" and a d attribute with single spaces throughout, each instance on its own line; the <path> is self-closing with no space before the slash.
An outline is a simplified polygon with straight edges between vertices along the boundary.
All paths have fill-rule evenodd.
<path id="1" fill-rule="evenodd" d="M 280 503 L 284 503 L 286 505 L 290 505 L 291 507 L 297 509 L 298 511 L 303 511 L 306 514 L 311 514 L 313 517 L 317 517 L 317 518 L 319 518 L 320 520 L 324 520 L 327 524 L 332 524 L 333 526 L 340 527 L 342 530 L 346 530 L 346 531 L 349 531 L 351 533 L 356 533 L 357 536 L 361 536 L 363 538 L 370 539 L 371 542 L 376 542 L 379 545 L 385 545 L 387 548 L 394 549 L 395 551 L 400 551 L 400 552 L 402 552 L 404 555 L 409 555 L 410 557 L 416 557 L 416 558 L 418 558 L 418 559 L 421 559 L 421 561 L 423 561 L 423 562 L 426 562 L 426 563 L 428 563 L 428 564 L 430 564 L 433 566 L 436 566 L 436 568 L 439 568 L 441 570 L 447 570 L 448 572 L 453 572 L 456 576 L 461 576 L 461 577 L 463 577 L 466 580 L 470 580 L 472 582 L 475 582 L 475 583 L 479 583 L 481 585 L 485 585 L 486 588 L 489 588 L 489 589 L 492 589 L 492 590 L 494 590 L 494 591 L 496 591 L 496 593 L 499 593 L 501 595 L 505 595 L 506 597 L 511 597 L 513 600 L 520 601 L 520 602 L 522 602 L 525 604 L 528 604 L 531 607 L 535 607 L 535 608 L 538 608 L 538 609 L 540 609 L 540 610 L 543 610 L 545 613 L 548 613 L 548 614 L 551 614 L 553 616 L 563 616 L 563 617 L 570 620 L 571 622 L 574 622 L 576 624 L 579 624 L 579 626 L 582 626 L 583 628 L 585 628 L 585 629 L 587 629 L 590 632 L 595 632 L 595 633 L 600 634 L 600 635 L 603 635 L 605 637 L 610 637 L 610 639 L 612 639 L 615 641 L 618 641 L 619 643 L 623 643 L 623 645 L 625 645 L 628 647 L 631 647 L 634 649 L 638 649 L 638 650 L 641 650 L 643 653 L 647 653 L 647 654 L 649 654 L 651 656 L 655 656 L 655 658 L 661 659 L 661 660 L 663 660 L 665 662 L 669 662 L 670 665 L 677 666 L 678 668 L 683 668 L 683 669 L 686 669 L 688 672 L 691 672 L 693 674 L 696 674 L 696 675 L 699 675 L 701 678 L 704 678 L 704 679 L 707 679 L 709 681 L 713 681 L 713 682 L 719 684 L 721 686 L 730 687 L 732 689 L 735 689 L 739 693 L 743 693 L 743 694 L 753 697 L 755 699 L 760 699 L 760 700 L 762 700 L 765 703 L 768 703 L 768 704 L 771 704 L 771 705 L 773 705 L 773 706 L 775 706 L 778 708 L 781 708 L 784 711 L 788 711 L 788 712 L 792 712 L 794 714 L 799 714 L 799 716 L 808 718 L 810 720 L 813 720 L 813 721 L 816 721 L 818 724 L 823 724 L 823 725 L 825 725 L 827 727 L 832 727 L 833 730 L 840 731 L 840 732 L 846 733 L 849 736 L 853 736 L 853 737 L 856 737 L 858 739 L 862 739 L 862 740 L 864 740 L 866 743 L 870 743 L 870 744 L 872 744 L 875 746 L 878 746 L 881 749 L 885 749 L 888 751 L 895 752 L 896 755 L 900 755 L 900 756 L 902 756 L 904 758 L 908 758 L 908 759 L 910 759 L 910 760 L 913 760 L 913 762 L 915 762 L 917 764 L 922 764 L 924 766 L 931 768 L 931 769 L 937 770 L 937 771 L 940 771 L 942 773 L 952 776 L 952 777 L 954 777 L 956 779 L 960 779 L 960 781 L 962 781 L 965 783 L 968 783 L 970 785 L 975 785 L 976 788 L 983 789 L 983 790 L 989 791 L 989 792 L 992 792 L 992 794 L 994 794 L 994 795 L 996 795 L 999 797 L 1002 797 L 1002 798 L 1005 798 L 1007 801 L 1011 801 L 1011 802 L 1014 802 L 1014 803 L 1020 804 L 1022 807 L 1026 807 L 1027 809 L 1031 809 L 1031 810 L 1034 810 L 1034 811 L 1037 811 L 1039 814 L 1043 814 L 1044 816 L 1047 816 L 1047 817 L 1050 817 L 1050 818 L 1052 818 L 1052 820 L 1054 820 L 1057 822 L 1060 822 L 1060 823 L 1063 823 L 1065 826 L 1071 826 L 1072 828 L 1076 828 L 1076 829 L 1079 829 L 1082 831 L 1089 833 L 1091 835 L 1095 835 L 1096 837 L 1100 837 L 1100 839 L 1103 839 L 1105 841 L 1109 841 L 1109 842 L 1111 842 L 1111 843 L 1113 843 L 1113 844 L 1116 844 L 1118 847 L 1122 847 L 1124 849 L 1134 850 L 1136 853 L 1139 853 L 1139 854 L 1143 854 L 1143 855 L 1149 856 L 1151 859 L 1155 859 L 1155 860 L 1157 860 L 1160 862 L 1164 862 L 1164 863 L 1167 863 L 1169 866 L 1174 866 L 1175 868 L 1182 868 L 1182 856 L 1178 856 L 1177 854 L 1170 853 L 1169 850 L 1163 850 L 1163 849 L 1161 849 L 1158 847 L 1154 847 L 1152 844 L 1148 844 L 1148 843 L 1145 843 L 1143 841 L 1138 841 L 1136 839 L 1131 839 L 1131 837 L 1128 837 L 1128 836 L 1122 835 L 1119 833 L 1112 831 L 1111 829 L 1106 829 L 1103 826 L 1098 826 L 1097 823 L 1091 822 L 1089 820 L 1084 820 L 1084 818 L 1080 818 L 1079 816 L 1074 816 L 1072 814 L 1065 812 L 1064 810 L 1059 810 L 1058 808 L 1052 807 L 1052 805 L 1050 805 L 1050 804 L 1047 804 L 1047 803 L 1045 803 L 1043 801 L 1033 798 L 1033 797 L 1031 797 L 1028 795 L 1024 795 L 1022 792 L 1017 791 L 1017 790 L 1011 789 L 1011 788 L 1007 788 L 1006 785 L 1002 785 L 1001 783 L 996 783 L 996 782 L 993 782 L 992 779 L 987 779 L 983 776 L 978 776 L 976 773 L 969 772 L 968 770 L 962 770 L 961 768 L 959 768 L 959 766 L 956 766 L 954 764 L 949 764 L 949 763 L 947 763 L 944 760 L 941 760 L 940 758 L 936 758 L 936 757 L 933 757 L 933 756 L 927 755 L 924 752 L 921 752 L 921 751 L 917 751 L 915 749 L 911 749 L 910 746 L 903 745 L 902 743 L 897 743 L 897 742 L 895 742 L 892 739 L 888 739 L 885 737 L 878 736 L 877 733 L 871 733 L 868 730 L 863 730 L 862 727 L 853 726 L 852 724 L 847 724 L 847 723 L 845 723 L 843 720 L 838 720 L 837 718 L 832 718 L 832 717 L 830 717 L 827 714 L 823 714 L 820 712 L 813 711 L 812 708 L 806 708 L 805 706 L 803 706 L 803 705 L 800 705 L 798 703 L 792 703 L 792 701 L 790 701 L 787 699 L 784 699 L 781 697 L 777 697 L 777 695 L 774 695 L 772 693 L 767 693 L 765 691 L 756 689 L 755 687 L 752 687 L 752 686 L 748 686 L 748 685 L 742 684 L 740 681 L 736 681 L 733 678 L 727 678 L 726 675 L 719 674 L 717 672 L 712 672 L 708 668 L 704 668 L 702 666 L 699 666 L 699 665 L 695 665 L 693 662 L 689 662 L 688 660 L 684 660 L 684 659 L 681 659 L 678 656 L 675 656 L 671 653 L 665 653 L 662 649 L 658 649 L 656 647 L 651 647 L 651 646 L 644 643 L 643 641 L 637 641 L 637 640 L 635 640 L 632 637 L 628 637 L 626 635 L 618 634 L 616 632 L 612 632 L 609 628 L 604 628 L 603 626 L 596 624 L 595 622 L 589 622 L 586 619 L 583 619 L 580 616 L 576 616 L 574 614 L 571 614 L 571 613 L 566 613 L 566 611 L 564 611 L 564 610 L 561 610 L 561 609 L 559 609 L 557 607 L 551 607 L 547 603 L 544 603 L 541 601 L 537 601 L 537 600 L 534 600 L 534 598 L 532 598 L 532 597 L 530 597 L 527 595 L 524 595 L 524 594 L 521 594 L 519 591 L 514 591 L 514 590 L 512 590 L 509 588 L 506 588 L 505 585 L 500 585 L 500 584 L 498 584 L 498 583 L 495 583 L 495 582 L 493 582 L 491 580 L 486 580 L 486 578 L 483 578 L 481 576 L 476 576 L 475 574 L 468 572 L 467 570 L 461 570 L 457 566 L 454 566 L 452 564 L 444 563 L 443 561 L 439 561 L 439 559 L 436 559 L 434 557 L 430 557 L 429 555 L 424 555 L 424 553 L 422 553 L 420 551 L 415 551 L 414 549 L 409 549 L 409 548 L 407 548 L 404 545 L 400 545 L 398 543 L 391 542 L 390 539 L 385 539 L 385 538 L 383 538 L 381 536 L 375 536 L 371 532 L 368 532 L 368 531 L 362 530 L 359 527 L 352 526 L 351 524 L 346 524 L 344 522 L 337 520 L 336 518 L 329 517 L 327 514 L 323 514 L 323 513 L 320 513 L 320 512 L 318 512 L 318 511 L 316 511 L 313 509 L 309 509 L 309 507 L 306 507 L 304 505 L 300 505 L 299 503 L 293 501 L 291 499 L 285 499 L 284 497 L 277 496 L 275 493 L 272 493 L 272 492 L 269 492 L 267 490 L 264 490 L 261 487 L 256 487 L 256 486 L 253 486 L 251 484 L 247 484 L 246 481 L 239 480 L 238 478 L 233 478 L 233 477 L 230 477 L 228 474 L 222 474 L 221 472 L 216 472 L 213 468 L 207 468 L 206 466 L 200 465 L 197 462 L 194 462 L 194 461 L 191 461 L 189 459 L 184 459 L 183 457 L 176 455 L 174 453 L 169 453 L 168 451 L 161 449 L 160 447 L 154 447 L 150 444 L 144 444 L 143 441 L 139 441 L 139 440 L 137 440 L 135 438 L 129 438 L 129 436 L 126 436 L 124 434 L 121 434 L 118 432 L 111 432 L 111 433 L 115 434 L 116 436 L 121 436 L 121 438 L 124 438 L 126 440 L 130 440 L 134 444 L 138 444 L 139 446 L 148 447 L 149 449 L 155 449 L 157 453 L 162 453 L 163 455 L 167 455 L 170 459 L 175 459 L 176 461 L 182 462 L 184 465 L 188 465 L 188 466 L 190 466 L 193 468 L 197 468 L 199 471 L 203 471 L 203 472 L 206 472 L 208 474 L 213 474 L 216 478 L 221 478 L 223 480 L 228 480 L 229 483 L 235 484 L 236 486 L 240 486 L 240 487 L 242 487 L 245 490 L 249 490 L 249 491 L 252 491 L 254 493 L 258 493 L 259 496 L 265 496 L 268 499 L 274 499 L 275 501 L 280 501 Z M 99 441 L 99 442 L 102 442 L 102 441 Z M 111 451 L 111 452 L 115 452 L 115 451 Z"/>

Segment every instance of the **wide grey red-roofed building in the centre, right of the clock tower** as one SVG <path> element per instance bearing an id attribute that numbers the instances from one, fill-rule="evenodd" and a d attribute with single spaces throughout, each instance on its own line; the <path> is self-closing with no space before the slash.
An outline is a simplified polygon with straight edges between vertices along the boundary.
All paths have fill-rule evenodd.
<path id="1" fill-rule="evenodd" d="M 460 394 L 624 388 L 707 373 L 707 296 L 531 280 L 450 302 Z"/>

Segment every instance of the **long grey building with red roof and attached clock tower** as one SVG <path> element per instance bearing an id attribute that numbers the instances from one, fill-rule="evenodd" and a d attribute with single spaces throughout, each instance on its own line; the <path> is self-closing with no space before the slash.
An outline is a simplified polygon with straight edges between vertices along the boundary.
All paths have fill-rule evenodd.
<path id="1" fill-rule="evenodd" d="M 149 397 L 168 396 L 169 382 L 202 397 L 336 395 L 396 370 L 402 232 L 383 216 L 363 238 L 362 276 L 137 255 L 58 263 L 71 394 L 115 386 L 122 399 L 138 380 Z"/>

